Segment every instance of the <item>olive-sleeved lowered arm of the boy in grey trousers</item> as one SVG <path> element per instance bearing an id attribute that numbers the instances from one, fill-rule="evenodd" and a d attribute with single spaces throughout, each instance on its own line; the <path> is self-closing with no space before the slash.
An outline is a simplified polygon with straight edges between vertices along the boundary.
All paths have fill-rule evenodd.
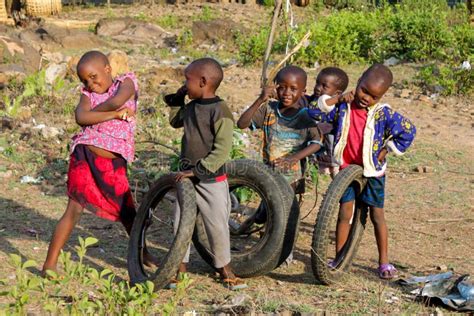
<path id="1" fill-rule="evenodd" d="M 198 161 L 193 169 L 195 176 L 206 174 L 206 170 L 214 173 L 230 158 L 234 132 L 234 120 L 227 107 L 223 109 L 222 117 L 214 123 L 215 139 L 211 152 Z"/>

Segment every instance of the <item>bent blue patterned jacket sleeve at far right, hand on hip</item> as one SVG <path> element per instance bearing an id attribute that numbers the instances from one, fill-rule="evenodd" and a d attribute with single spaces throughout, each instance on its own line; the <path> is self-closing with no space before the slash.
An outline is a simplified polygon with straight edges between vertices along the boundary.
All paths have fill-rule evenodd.
<path id="1" fill-rule="evenodd" d="M 391 109 L 387 111 L 387 120 L 388 139 L 384 147 L 395 155 L 403 155 L 415 139 L 416 127 L 409 119 Z"/>

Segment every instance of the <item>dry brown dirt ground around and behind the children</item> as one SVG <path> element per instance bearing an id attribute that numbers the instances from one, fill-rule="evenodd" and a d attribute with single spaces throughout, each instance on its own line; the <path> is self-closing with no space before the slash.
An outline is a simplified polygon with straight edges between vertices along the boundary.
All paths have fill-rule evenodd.
<path id="1" fill-rule="evenodd" d="M 177 14 L 184 27 L 190 25 L 187 19 L 202 9 L 201 5 L 189 7 L 154 7 L 154 17 Z M 184 9 L 185 8 L 185 9 Z M 189 8 L 192 8 L 189 9 Z M 238 4 L 212 5 L 214 14 L 242 21 L 244 26 L 255 26 L 255 20 L 269 15 L 269 10 L 256 6 Z M 101 8 L 68 9 L 63 19 L 87 20 L 97 22 L 100 17 L 111 15 L 137 16 L 150 11 L 147 7 L 124 6 L 109 11 Z M 301 10 L 297 16 L 303 16 Z M 269 20 L 269 19 L 268 19 Z M 51 20 L 54 21 L 54 20 Z M 266 20 L 265 20 L 266 21 Z M 261 23 L 261 21 L 259 22 Z M 180 28 L 183 26 L 180 25 Z M 178 34 L 179 30 L 169 29 Z M 162 51 L 149 52 L 137 48 L 134 44 L 117 44 L 108 39 L 103 50 L 122 48 L 129 55 L 130 69 L 143 78 L 147 75 L 147 65 L 169 64 L 180 60 L 180 53 L 166 55 Z M 146 45 L 144 47 L 147 47 Z M 196 47 L 201 54 L 206 47 Z M 225 50 L 223 48 L 222 50 Z M 81 50 L 63 50 L 69 56 L 80 55 Z M 189 54 L 189 51 L 183 54 Z M 235 52 L 223 53 L 230 58 Z M 416 89 L 412 95 L 399 97 L 402 83 L 412 78 L 416 65 L 399 65 L 392 68 L 395 77 L 394 87 L 385 97 L 385 102 L 400 111 L 414 122 L 417 136 L 414 145 L 402 158 L 390 157 L 387 172 L 386 218 L 389 227 L 389 256 L 402 276 L 426 275 L 440 270 L 453 270 L 459 274 L 474 274 L 474 108 L 472 100 L 466 98 L 435 98 L 427 102 L 416 100 Z M 350 75 L 353 87 L 364 66 L 349 66 L 344 69 Z M 220 96 L 227 100 L 235 118 L 258 95 L 260 68 L 241 67 L 230 64 L 225 68 L 225 79 L 220 88 Z M 308 69 L 310 81 L 308 90 L 314 84 L 317 70 Z M 146 84 L 143 78 L 140 83 Z M 141 107 L 149 107 L 155 98 L 164 91 L 179 87 L 180 79 L 172 78 L 167 85 L 156 90 L 144 89 Z M 79 84 L 79 82 L 76 82 Z M 75 93 L 75 92 L 72 92 Z M 76 96 L 74 96 L 76 97 Z M 41 106 L 40 106 L 41 107 Z M 166 111 L 158 108 L 158 111 Z M 53 112 L 56 113 L 56 112 Z M 157 116 L 166 117 L 165 113 Z M 12 170 L 11 177 L 0 179 L 0 261 L 6 262 L 9 253 L 18 253 L 38 263 L 43 262 L 53 228 L 64 212 L 67 198 L 64 195 L 66 145 L 73 129 L 72 117 L 48 115 L 35 111 L 37 122 L 54 122 L 66 130 L 66 136 L 58 140 L 57 147 L 62 149 L 51 152 L 53 158 L 44 159 L 44 151 L 35 149 L 35 141 L 22 141 L 15 130 L 3 129 L 0 134 L 0 146 L 17 146 L 18 154 L 29 152 L 28 160 L 15 160 L 0 154 L 0 170 Z M 149 122 L 149 120 L 147 121 Z M 61 125 L 62 124 L 62 125 Z M 140 123 L 139 123 L 140 124 Z M 160 125 L 161 123 L 158 123 Z M 164 124 L 164 123 L 163 123 Z M 140 130 L 141 139 L 146 138 L 145 128 Z M 158 133 L 161 130 L 157 129 Z M 164 136 L 163 136 L 164 135 Z M 171 134 L 163 127 L 163 136 L 168 144 L 179 135 Z M 168 138 L 168 139 L 166 139 Z M 253 139 L 253 138 L 252 138 Z M 39 141 L 39 140 L 38 140 Z M 142 157 L 151 147 L 137 146 Z M 159 147 L 152 147 L 153 150 Z M 52 149 L 51 149 L 52 150 Z M 33 153 L 33 154 L 31 154 Z M 150 152 L 148 152 L 150 155 Z M 155 156 L 156 158 L 156 156 Z M 131 183 L 144 168 L 144 162 L 133 166 Z M 426 167 L 427 172 L 418 172 L 417 168 Z M 48 169 L 49 168 L 49 169 Z M 36 176 L 41 170 L 52 170 L 51 181 L 38 185 L 22 184 L 24 175 Z M 137 171 L 138 170 L 138 171 Z M 30 174 L 33 172 L 33 174 Z M 137 176 L 138 179 L 138 176 Z M 319 201 L 329 183 L 328 177 L 321 177 Z M 314 191 L 308 190 L 301 213 L 307 214 L 314 203 Z M 313 211 L 301 224 L 298 243 L 295 248 L 295 260 L 289 266 L 283 265 L 266 276 L 248 279 L 249 288 L 239 293 L 223 289 L 213 278 L 212 270 L 192 252 L 190 267 L 193 285 L 188 295 L 180 302 L 179 312 L 217 312 L 220 306 L 237 295 L 245 297 L 249 312 L 337 312 L 337 313 L 432 313 L 434 306 L 425 306 L 416 302 L 396 282 L 379 280 L 376 274 L 377 249 L 373 237 L 373 228 L 367 225 L 361 246 L 347 277 L 340 283 L 327 287 L 318 285 L 310 267 L 310 246 L 315 223 L 316 211 Z M 118 276 L 127 279 L 126 254 L 127 237 L 119 224 L 98 219 L 90 213 L 83 218 L 74 231 L 66 250 L 73 251 L 78 236 L 94 236 L 100 240 L 99 247 L 90 249 L 87 263 L 98 269 L 109 268 Z M 41 267 L 38 267 L 40 269 Z M 8 278 L 14 273 L 6 264 L 0 267 L 0 278 Z M 164 302 L 170 291 L 160 290 L 159 301 Z M 394 299 L 394 297 L 396 299 Z M 239 310 L 226 310 L 237 313 Z M 242 312 L 242 310 L 241 310 Z"/>

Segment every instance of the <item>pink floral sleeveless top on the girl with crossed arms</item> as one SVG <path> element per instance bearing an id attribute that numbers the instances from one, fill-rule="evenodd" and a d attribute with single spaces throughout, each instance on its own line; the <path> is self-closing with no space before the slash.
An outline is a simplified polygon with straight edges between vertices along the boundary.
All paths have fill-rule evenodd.
<path id="1" fill-rule="evenodd" d="M 120 84 L 127 78 L 133 81 L 135 97 L 125 102 L 122 108 L 128 107 L 136 112 L 138 105 L 138 81 L 135 74 L 131 72 L 117 77 L 105 93 L 94 93 L 84 87 L 81 88 L 81 93 L 90 99 L 91 108 L 94 109 L 102 102 L 114 96 Z M 130 121 L 115 119 L 95 125 L 83 126 L 81 131 L 72 137 L 71 153 L 74 152 L 74 148 L 78 144 L 93 145 L 120 154 L 127 162 L 132 162 L 135 155 L 135 128 L 135 117 L 132 117 Z"/>

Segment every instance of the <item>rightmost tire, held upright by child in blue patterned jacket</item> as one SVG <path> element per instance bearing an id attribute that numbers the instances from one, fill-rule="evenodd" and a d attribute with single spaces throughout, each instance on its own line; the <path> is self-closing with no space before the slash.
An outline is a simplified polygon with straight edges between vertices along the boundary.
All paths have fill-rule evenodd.
<path id="1" fill-rule="evenodd" d="M 335 236 L 339 200 L 352 183 L 356 183 L 357 194 L 359 194 L 366 182 L 362 167 L 350 165 L 336 175 L 323 198 L 316 218 L 311 246 L 313 274 L 322 284 L 329 285 L 336 282 L 352 264 L 365 229 L 367 206 L 355 203 L 348 239 L 337 256 L 335 243 L 331 243 L 331 239 Z"/>

